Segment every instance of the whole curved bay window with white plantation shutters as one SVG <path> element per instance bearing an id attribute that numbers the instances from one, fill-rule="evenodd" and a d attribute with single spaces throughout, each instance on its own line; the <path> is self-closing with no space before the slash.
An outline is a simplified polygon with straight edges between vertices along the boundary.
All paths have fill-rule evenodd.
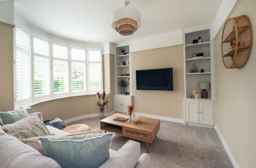
<path id="1" fill-rule="evenodd" d="M 23 29 L 15 31 L 16 108 L 102 90 L 101 48 L 69 46 Z"/>

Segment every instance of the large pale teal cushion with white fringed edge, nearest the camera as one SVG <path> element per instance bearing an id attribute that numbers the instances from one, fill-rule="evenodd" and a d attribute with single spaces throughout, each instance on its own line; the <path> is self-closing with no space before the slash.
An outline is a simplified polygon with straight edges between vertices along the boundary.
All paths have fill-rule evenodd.
<path id="1" fill-rule="evenodd" d="M 109 158 L 113 133 L 39 138 L 45 156 L 62 168 L 98 168 Z"/>

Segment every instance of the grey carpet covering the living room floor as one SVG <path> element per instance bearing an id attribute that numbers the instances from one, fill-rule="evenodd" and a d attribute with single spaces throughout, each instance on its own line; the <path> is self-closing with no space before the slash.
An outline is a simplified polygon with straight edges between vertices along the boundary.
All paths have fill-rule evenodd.
<path id="1" fill-rule="evenodd" d="M 87 124 L 92 130 L 100 129 L 98 117 L 68 125 L 72 124 Z M 116 134 L 111 149 L 119 150 L 128 140 Z M 141 153 L 146 153 L 146 144 L 139 142 Z M 161 120 L 160 131 L 149 144 L 149 152 L 151 168 L 233 168 L 219 136 L 211 128 Z"/>

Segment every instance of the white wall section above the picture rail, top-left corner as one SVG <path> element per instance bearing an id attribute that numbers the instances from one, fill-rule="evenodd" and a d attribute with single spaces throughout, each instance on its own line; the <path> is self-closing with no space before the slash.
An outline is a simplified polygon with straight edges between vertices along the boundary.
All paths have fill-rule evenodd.
<path id="1" fill-rule="evenodd" d="M 0 21 L 13 25 L 13 0 L 0 0 Z"/>

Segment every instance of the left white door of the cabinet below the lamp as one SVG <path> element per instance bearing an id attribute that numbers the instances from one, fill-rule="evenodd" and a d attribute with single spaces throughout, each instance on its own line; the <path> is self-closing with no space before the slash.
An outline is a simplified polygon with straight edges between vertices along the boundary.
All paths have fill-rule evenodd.
<path id="1" fill-rule="evenodd" d="M 186 100 L 186 122 L 199 123 L 198 100 Z"/>

